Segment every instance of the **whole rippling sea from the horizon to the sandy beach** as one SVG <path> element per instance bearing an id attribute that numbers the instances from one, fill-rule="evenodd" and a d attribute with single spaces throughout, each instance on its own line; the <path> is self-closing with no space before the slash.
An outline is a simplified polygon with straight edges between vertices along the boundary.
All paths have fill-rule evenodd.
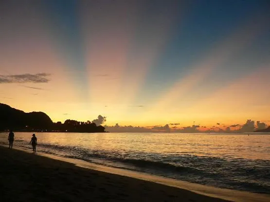
<path id="1" fill-rule="evenodd" d="M 38 152 L 222 188 L 270 194 L 270 135 L 39 133 Z M 30 133 L 14 147 L 29 148 Z M 7 133 L 0 133 L 7 144 Z"/>

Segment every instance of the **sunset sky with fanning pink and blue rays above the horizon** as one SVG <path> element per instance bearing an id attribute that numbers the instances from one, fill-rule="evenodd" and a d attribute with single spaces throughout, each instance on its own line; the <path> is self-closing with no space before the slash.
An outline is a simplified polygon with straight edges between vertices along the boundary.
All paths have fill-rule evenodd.
<path id="1" fill-rule="evenodd" d="M 112 130 L 270 124 L 269 11 L 269 0 L 1 0 L 0 103 L 55 122 L 101 115 Z"/>

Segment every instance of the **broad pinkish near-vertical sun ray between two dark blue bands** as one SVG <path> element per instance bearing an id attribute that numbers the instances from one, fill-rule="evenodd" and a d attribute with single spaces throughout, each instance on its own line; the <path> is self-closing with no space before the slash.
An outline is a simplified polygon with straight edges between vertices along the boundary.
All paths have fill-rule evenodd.
<path id="1" fill-rule="evenodd" d="M 125 112 L 123 106 L 127 107 L 134 99 L 149 68 L 162 53 L 175 14 L 164 11 L 149 26 L 151 19 L 144 19 L 144 4 L 143 1 L 141 4 L 134 1 L 102 6 L 94 3 L 90 7 L 84 5 L 88 11 L 83 12 L 83 18 L 84 33 L 88 36 L 90 101 L 95 108 L 114 105 L 120 106 L 122 113 Z M 105 16 L 101 15 L 99 7 L 106 11 Z M 142 26 L 141 20 L 148 21 Z M 146 33 L 150 35 L 144 35 Z M 144 40 L 147 40 L 146 44 L 142 44 Z"/>

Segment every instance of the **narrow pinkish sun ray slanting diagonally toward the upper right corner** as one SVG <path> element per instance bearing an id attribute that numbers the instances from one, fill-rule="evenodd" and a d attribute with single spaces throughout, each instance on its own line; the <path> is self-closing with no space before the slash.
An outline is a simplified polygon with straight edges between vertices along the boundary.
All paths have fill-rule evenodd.
<path id="1" fill-rule="evenodd" d="M 147 114 L 154 111 L 167 110 L 173 102 L 181 99 L 200 82 L 202 82 L 214 69 L 227 62 L 232 56 L 243 50 L 252 43 L 266 25 L 265 15 L 259 14 L 240 26 L 233 34 L 229 35 L 221 43 L 217 44 L 202 61 L 199 61 L 194 67 L 190 67 L 191 72 L 184 78 L 178 80 L 172 87 L 162 95 Z"/>

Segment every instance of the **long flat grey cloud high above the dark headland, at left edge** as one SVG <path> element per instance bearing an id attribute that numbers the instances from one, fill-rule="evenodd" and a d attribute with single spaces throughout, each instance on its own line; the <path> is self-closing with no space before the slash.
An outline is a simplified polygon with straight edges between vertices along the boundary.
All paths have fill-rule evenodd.
<path id="1" fill-rule="evenodd" d="M 51 74 L 38 73 L 38 74 L 14 74 L 14 75 L 0 75 L 0 84 L 11 84 L 11 83 L 48 83 Z"/>

